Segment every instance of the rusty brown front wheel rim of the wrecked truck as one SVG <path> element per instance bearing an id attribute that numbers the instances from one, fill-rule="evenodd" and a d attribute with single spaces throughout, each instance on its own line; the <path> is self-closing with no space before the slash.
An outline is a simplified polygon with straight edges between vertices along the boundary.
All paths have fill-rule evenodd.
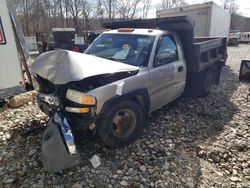
<path id="1" fill-rule="evenodd" d="M 123 109 L 118 111 L 112 122 L 112 132 L 117 137 L 127 137 L 136 125 L 136 116 L 132 110 Z"/>

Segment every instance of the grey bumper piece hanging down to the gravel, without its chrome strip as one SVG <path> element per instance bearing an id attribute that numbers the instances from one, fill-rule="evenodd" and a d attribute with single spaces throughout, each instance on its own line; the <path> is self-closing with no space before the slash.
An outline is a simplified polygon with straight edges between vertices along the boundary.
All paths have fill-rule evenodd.
<path id="1" fill-rule="evenodd" d="M 55 113 L 57 118 L 57 112 Z M 48 128 L 44 131 L 42 141 L 42 162 L 44 170 L 47 172 L 59 172 L 63 169 L 72 167 L 80 163 L 80 155 L 75 150 L 74 154 L 70 153 L 69 145 L 67 143 L 67 137 L 65 132 L 62 131 L 62 127 L 65 121 L 60 119 L 60 125 L 56 124 L 53 119 L 50 118 L 48 122 Z M 70 127 L 67 127 L 71 133 Z M 67 136 L 67 135 L 66 135 Z M 73 135 L 71 135 L 73 138 Z M 74 144 L 74 140 L 71 140 L 71 147 Z M 75 145 L 73 145 L 75 147 Z"/>

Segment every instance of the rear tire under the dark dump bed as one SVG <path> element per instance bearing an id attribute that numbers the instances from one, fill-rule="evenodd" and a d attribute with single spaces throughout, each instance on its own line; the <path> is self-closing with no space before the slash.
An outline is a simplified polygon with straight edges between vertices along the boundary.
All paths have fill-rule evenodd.
<path id="1" fill-rule="evenodd" d="M 207 70 L 205 74 L 201 77 L 201 86 L 200 86 L 200 97 L 207 97 L 211 91 L 213 84 L 213 75 L 211 70 Z"/>

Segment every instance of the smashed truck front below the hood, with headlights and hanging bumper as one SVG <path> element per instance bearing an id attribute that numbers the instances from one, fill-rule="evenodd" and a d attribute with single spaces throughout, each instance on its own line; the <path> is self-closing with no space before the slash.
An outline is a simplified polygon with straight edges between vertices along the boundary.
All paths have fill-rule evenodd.
<path id="1" fill-rule="evenodd" d="M 37 104 L 50 119 L 43 134 L 42 162 L 49 172 L 58 172 L 80 162 L 74 130 L 88 129 L 96 120 L 96 99 L 70 89 L 74 84 L 53 85 L 36 76 L 39 83 Z"/>

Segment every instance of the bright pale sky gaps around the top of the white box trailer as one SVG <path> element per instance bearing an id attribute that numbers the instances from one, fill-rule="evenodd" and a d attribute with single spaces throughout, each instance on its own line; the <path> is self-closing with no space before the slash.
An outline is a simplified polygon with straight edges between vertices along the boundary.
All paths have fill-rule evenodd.
<path id="1" fill-rule="evenodd" d="M 188 4 L 198 4 L 208 2 L 209 0 L 186 0 Z M 210 0 L 211 1 L 211 0 Z M 218 5 L 222 5 L 223 0 L 214 0 Z M 239 6 L 237 13 L 243 16 L 250 17 L 250 0 L 235 0 L 235 3 Z M 155 12 L 160 8 L 161 0 L 152 0 L 152 8 L 149 11 L 148 17 L 155 17 Z"/>

